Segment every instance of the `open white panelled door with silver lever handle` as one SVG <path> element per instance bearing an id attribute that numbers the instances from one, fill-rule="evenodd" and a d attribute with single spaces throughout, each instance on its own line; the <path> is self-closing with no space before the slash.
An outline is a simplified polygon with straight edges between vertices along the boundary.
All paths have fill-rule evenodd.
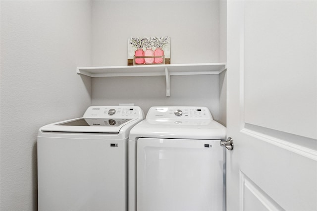
<path id="1" fill-rule="evenodd" d="M 227 1 L 227 210 L 317 210 L 317 1 Z"/>

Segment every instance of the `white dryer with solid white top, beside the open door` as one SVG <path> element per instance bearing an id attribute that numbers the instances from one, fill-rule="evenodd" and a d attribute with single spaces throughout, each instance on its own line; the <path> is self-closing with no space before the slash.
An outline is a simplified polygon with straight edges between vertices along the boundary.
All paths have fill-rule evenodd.
<path id="1" fill-rule="evenodd" d="M 226 128 L 207 107 L 151 107 L 129 136 L 129 211 L 225 210 Z"/>

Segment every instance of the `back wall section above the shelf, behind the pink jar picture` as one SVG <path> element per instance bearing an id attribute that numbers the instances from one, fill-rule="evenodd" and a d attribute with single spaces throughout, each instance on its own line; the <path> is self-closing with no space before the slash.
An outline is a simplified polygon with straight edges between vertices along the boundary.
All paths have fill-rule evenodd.
<path id="1" fill-rule="evenodd" d="M 219 60 L 215 0 L 93 1 L 93 65 L 127 64 L 130 37 L 170 36 L 171 63 Z"/>

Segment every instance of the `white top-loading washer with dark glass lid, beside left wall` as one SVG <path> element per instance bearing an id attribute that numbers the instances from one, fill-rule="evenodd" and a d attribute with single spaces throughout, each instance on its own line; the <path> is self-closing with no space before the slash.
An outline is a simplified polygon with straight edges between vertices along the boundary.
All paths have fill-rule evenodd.
<path id="1" fill-rule="evenodd" d="M 138 106 L 91 106 L 38 133 L 39 211 L 127 211 L 128 136 Z"/>

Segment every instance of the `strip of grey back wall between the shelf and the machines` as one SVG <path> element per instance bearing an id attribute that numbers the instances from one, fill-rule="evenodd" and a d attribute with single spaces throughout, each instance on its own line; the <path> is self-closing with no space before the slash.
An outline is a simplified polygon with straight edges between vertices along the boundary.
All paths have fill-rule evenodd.
<path id="1" fill-rule="evenodd" d="M 134 103 L 145 113 L 151 106 L 207 106 L 219 119 L 219 76 L 171 76 L 171 97 L 165 77 L 113 77 L 93 80 L 93 105 Z"/>

